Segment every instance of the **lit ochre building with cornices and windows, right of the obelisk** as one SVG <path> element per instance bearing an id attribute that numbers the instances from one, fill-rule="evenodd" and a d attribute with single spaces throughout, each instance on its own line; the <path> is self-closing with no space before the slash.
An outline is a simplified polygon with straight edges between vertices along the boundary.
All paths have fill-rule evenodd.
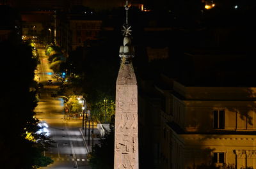
<path id="1" fill-rule="evenodd" d="M 166 77 L 164 77 L 166 79 Z M 160 110 L 161 168 L 256 168 L 256 87 L 189 87 L 170 80 Z"/>

